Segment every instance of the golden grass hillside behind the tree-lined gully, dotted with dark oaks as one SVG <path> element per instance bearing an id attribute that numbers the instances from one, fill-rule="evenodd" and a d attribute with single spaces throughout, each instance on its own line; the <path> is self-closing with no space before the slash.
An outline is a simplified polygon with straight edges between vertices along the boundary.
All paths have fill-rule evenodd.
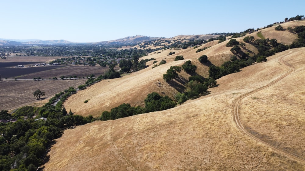
<path id="1" fill-rule="evenodd" d="M 305 20 L 303 21 L 292 21 L 282 23 L 283 27 L 295 27 L 299 25 L 305 25 Z M 289 31 L 276 31 L 274 30 L 275 26 L 262 29 L 260 32 L 264 35 L 265 38 L 270 37 L 276 38 L 278 42 L 283 43 L 292 43 L 297 35 Z M 255 39 L 259 39 L 257 32 L 248 34 L 247 36 L 254 36 Z M 188 36 L 177 36 L 175 39 L 186 39 Z M 239 42 L 243 42 L 244 37 L 235 38 Z M 163 41 L 163 40 L 160 40 Z M 72 95 L 64 103 L 67 109 L 71 109 L 77 115 L 93 115 L 98 117 L 102 114 L 103 111 L 109 111 L 111 108 L 117 107 L 123 103 L 129 103 L 131 106 L 144 106 L 144 99 L 147 97 L 147 94 L 152 92 L 157 92 L 161 95 L 167 95 L 171 98 L 174 98 L 175 94 L 179 91 L 183 91 L 183 85 L 177 83 L 178 88 L 174 88 L 172 85 L 168 84 L 163 80 L 163 74 L 166 73 L 167 69 L 170 66 L 181 66 L 186 60 L 191 60 L 193 64 L 197 66 L 196 72 L 203 77 L 208 77 L 209 65 L 203 65 L 199 63 L 198 58 L 202 55 L 208 56 L 208 60 L 216 65 L 221 66 L 225 61 L 230 60 L 231 56 L 234 54 L 230 51 L 231 47 L 226 47 L 225 45 L 229 42 L 226 40 L 222 43 L 218 41 L 212 41 L 206 43 L 198 48 L 194 49 L 189 47 L 187 49 L 177 49 L 171 48 L 166 50 L 159 50 L 158 52 L 152 52 L 148 56 L 142 57 L 142 59 L 155 58 L 159 64 L 161 60 L 166 60 L 167 63 L 159 67 L 153 68 L 153 61 L 149 61 L 147 65 L 149 67 L 144 70 L 140 70 L 130 75 L 124 76 L 122 78 L 117 78 L 113 80 L 102 80 L 91 87 L 79 91 L 77 94 Z M 199 53 L 196 53 L 196 50 L 203 47 L 211 46 L 210 48 L 203 50 Z M 250 55 L 258 53 L 257 49 L 246 43 L 246 50 L 251 51 Z M 243 49 L 244 52 L 247 52 Z M 175 52 L 173 55 L 168 55 L 170 52 Z M 185 60 L 174 61 L 175 57 L 182 55 Z M 179 74 L 184 80 L 188 80 L 190 75 L 182 72 Z M 88 103 L 84 101 L 88 100 Z"/>

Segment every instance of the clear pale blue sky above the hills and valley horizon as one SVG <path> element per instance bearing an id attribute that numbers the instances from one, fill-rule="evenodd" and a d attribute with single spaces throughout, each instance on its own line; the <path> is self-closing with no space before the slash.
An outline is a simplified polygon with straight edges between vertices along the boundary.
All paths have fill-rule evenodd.
<path id="1" fill-rule="evenodd" d="M 99 42 L 241 32 L 305 15 L 305 1 L 0 0 L 0 38 Z"/>

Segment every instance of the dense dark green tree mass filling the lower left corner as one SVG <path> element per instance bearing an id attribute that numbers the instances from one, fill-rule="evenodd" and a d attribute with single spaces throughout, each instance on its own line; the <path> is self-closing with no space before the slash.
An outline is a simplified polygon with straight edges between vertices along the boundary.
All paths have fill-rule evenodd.
<path id="1" fill-rule="evenodd" d="M 5 113 L 7 111 L 2 110 L 0 116 L 7 115 Z M 37 119 L 32 119 L 34 114 Z M 43 164 L 53 140 L 60 136 L 63 129 L 94 120 L 92 116 L 66 114 L 65 108 L 46 103 L 40 108 L 20 108 L 11 116 L 17 121 L 1 123 L 0 170 L 37 170 Z M 28 119 L 23 116 L 28 116 Z"/>

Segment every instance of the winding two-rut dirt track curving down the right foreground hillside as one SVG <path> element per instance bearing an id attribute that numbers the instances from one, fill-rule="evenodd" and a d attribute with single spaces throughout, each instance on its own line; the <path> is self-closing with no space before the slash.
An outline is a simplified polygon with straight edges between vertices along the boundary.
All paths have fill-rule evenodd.
<path id="1" fill-rule="evenodd" d="M 248 92 L 248 93 L 246 93 L 246 94 L 240 96 L 239 98 L 237 98 L 237 99 L 233 102 L 234 105 L 232 106 L 232 111 L 234 111 L 234 113 L 233 113 L 233 116 L 234 116 L 234 117 L 233 117 L 233 118 L 234 118 L 234 122 L 236 123 L 237 127 L 238 127 L 239 129 L 241 129 L 242 132 L 244 132 L 246 135 L 248 135 L 248 136 L 251 137 L 252 139 L 255 139 L 256 141 L 261 142 L 262 144 L 266 145 L 267 147 L 270 147 L 271 149 L 274 149 L 274 150 L 276 150 L 276 151 L 282 153 L 283 155 L 287 156 L 288 158 L 291 158 L 291 159 L 296 160 L 296 161 L 298 161 L 298 162 L 305 163 L 305 159 L 302 159 L 302 158 L 300 158 L 300 157 L 298 157 L 298 156 L 295 156 L 295 155 L 293 155 L 293 154 L 291 154 L 291 153 L 289 153 L 289 152 L 285 152 L 284 150 L 282 150 L 282 149 L 280 149 L 280 148 L 278 148 L 278 147 L 276 147 L 276 146 L 273 146 L 273 145 L 271 145 L 271 144 L 269 144 L 269 143 L 267 143 L 267 142 L 264 142 L 263 140 L 257 138 L 256 136 L 252 135 L 251 133 L 249 133 L 249 132 L 243 127 L 242 122 L 240 121 L 240 118 L 239 118 L 239 115 L 240 115 L 240 114 L 239 114 L 238 109 L 239 109 L 239 103 L 240 103 L 240 101 L 241 101 L 242 99 L 244 99 L 244 98 L 246 98 L 246 97 L 248 97 L 248 96 L 250 96 L 250 95 L 252 95 L 252 94 L 254 94 L 254 93 L 258 92 L 258 91 L 261 91 L 261 90 L 263 90 L 263 89 L 265 89 L 265 88 L 267 88 L 267 87 L 270 87 L 270 86 L 272 86 L 272 85 L 278 83 L 278 81 L 282 80 L 283 78 L 285 78 L 286 76 L 288 76 L 289 74 L 291 74 L 291 73 L 294 71 L 294 68 L 290 67 L 289 65 L 285 64 L 285 63 L 282 61 L 283 58 L 284 58 L 284 57 L 281 57 L 278 61 L 279 61 L 280 63 L 282 63 L 283 66 L 289 68 L 289 71 L 287 71 L 287 72 L 286 72 L 285 74 L 283 74 L 281 77 L 278 77 L 277 79 L 273 80 L 273 81 L 270 82 L 269 84 L 267 84 L 267 85 L 265 85 L 265 86 L 263 86 L 263 87 L 257 88 L 257 89 L 255 89 L 255 90 L 253 90 L 253 91 L 250 91 L 250 92 Z"/>

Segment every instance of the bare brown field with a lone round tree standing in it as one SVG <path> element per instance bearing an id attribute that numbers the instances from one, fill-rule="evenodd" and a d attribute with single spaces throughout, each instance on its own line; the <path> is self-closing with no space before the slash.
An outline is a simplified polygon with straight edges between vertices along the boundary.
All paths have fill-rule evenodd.
<path id="1" fill-rule="evenodd" d="M 12 110 L 26 105 L 41 106 L 41 103 L 48 102 L 60 91 L 68 89 L 70 86 L 77 87 L 84 84 L 86 79 L 77 80 L 2 80 L 0 81 L 0 109 Z M 37 89 L 45 92 L 46 99 L 36 100 L 33 93 Z"/>

